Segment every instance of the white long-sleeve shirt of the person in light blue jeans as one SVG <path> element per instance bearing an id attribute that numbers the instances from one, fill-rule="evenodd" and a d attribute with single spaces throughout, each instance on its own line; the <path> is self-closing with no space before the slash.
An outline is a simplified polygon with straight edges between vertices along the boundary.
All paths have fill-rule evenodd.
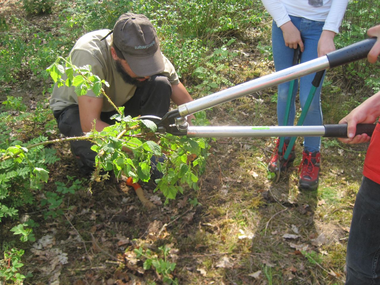
<path id="1" fill-rule="evenodd" d="M 323 30 L 339 33 L 348 0 L 261 0 L 277 24 L 290 21 L 288 15 L 325 22 Z"/>

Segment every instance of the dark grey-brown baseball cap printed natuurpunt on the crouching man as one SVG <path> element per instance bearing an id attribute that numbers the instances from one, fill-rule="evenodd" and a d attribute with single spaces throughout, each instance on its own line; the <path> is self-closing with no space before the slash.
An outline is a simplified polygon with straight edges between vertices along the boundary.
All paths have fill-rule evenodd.
<path id="1" fill-rule="evenodd" d="M 120 16 L 113 29 L 113 42 L 137 76 L 164 71 L 157 32 L 146 16 L 133 13 Z"/>

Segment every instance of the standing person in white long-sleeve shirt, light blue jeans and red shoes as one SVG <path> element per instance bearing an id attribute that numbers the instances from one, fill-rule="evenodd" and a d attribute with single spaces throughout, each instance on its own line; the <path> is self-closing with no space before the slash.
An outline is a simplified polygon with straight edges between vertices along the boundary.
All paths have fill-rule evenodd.
<path id="1" fill-rule="evenodd" d="M 339 32 L 348 0 L 262 0 L 266 10 L 273 18 L 272 52 L 275 70 L 283 70 L 293 65 L 294 51 L 299 46 L 300 62 L 307 62 L 334 51 L 334 36 Z M 301 108 L 312 87 L 315 73 L 301 77 L 299 80 L 299 101 Z M 315 92 L 303 125 L 322 125 L 320 104 L 320 86 Z M 284 122 L 290 82 L 279 84 L 277 92 L 277 120 L 279 125 L 294 125 L 296 114 L 295 98 L 298 84 L 292 90 L 292 103 L 288 122 Z M 295 159 L 294 146 L 285 160 L 283 154 L 290 138 L 285 138 L 282 149 L 280 140 L 276 140 L 274 154 L 268 169 L 277 172 L 285 170 Z M 320 169 L 320 137 L 305 137 L 302 161 L 299 167 L 299 187 L 314 190 L 318 188 Z"/>

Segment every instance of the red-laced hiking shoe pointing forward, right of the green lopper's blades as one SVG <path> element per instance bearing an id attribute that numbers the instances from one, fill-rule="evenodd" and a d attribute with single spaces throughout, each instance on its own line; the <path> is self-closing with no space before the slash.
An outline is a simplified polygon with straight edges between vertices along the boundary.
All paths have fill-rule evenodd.
<path id="1" fill-rule="evenodd" d="M 302 161 L 299 165 L 299 188 L 315 190 L 319 183 L 321 153 L 319 151 L 308 152 L 304 150 Z"/>

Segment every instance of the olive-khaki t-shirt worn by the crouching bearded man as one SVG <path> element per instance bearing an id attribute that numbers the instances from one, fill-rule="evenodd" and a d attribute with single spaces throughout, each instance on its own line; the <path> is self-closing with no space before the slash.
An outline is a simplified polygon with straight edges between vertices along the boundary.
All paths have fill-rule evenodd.
<path id="1" fill-rule="evenodd" d="M 100 41 L 109 32 L 110 30 L 98 30 L 82 36 L 71 49 L 70 56 L 73 65 L 77 67 L 91 65 L 92 73 L 109 83 L 109 87 L 103 85 L 103 89 L 111 101 L 117 107 L 120 107 L 133 96 L 136 86 L 125 83 L 116 71 L 116 64 L 111 55 L 112 35 Z M 161 74 L 166 76 L 172 85 L 179 84 L 178 75 L 173 65 L 164 55 L 162 57 L 165 70 Z M 89 91 L 87 96 L 96 97 L 92 91 Z M 103 95 L 100 96 L 103 97 Z M 73 104 L 78 104 L 75 87 L 62 86 L 58 88 L 57 84 L 55 84 L 50 99 L 52 110 L 59 111 Z M 108 100 L 103 98 L 102 112 L 113 110 L 114 108 L 109 104 Z"/>

